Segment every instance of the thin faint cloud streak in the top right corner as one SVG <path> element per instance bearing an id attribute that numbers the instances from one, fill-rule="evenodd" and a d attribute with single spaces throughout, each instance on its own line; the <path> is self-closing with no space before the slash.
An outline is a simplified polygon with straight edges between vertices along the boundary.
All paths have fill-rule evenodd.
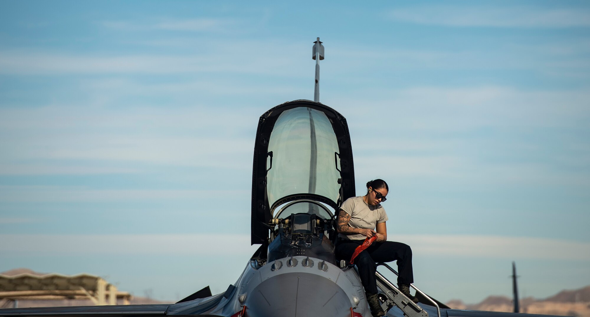
<path id="1" fill-rule="evenodd" d="M 537 6 L 499 8 L 481 5 L 421 5 L 389 12 L 395 21 L 448 27 L 570 28 L 590 27 L 588 9 Z"/>

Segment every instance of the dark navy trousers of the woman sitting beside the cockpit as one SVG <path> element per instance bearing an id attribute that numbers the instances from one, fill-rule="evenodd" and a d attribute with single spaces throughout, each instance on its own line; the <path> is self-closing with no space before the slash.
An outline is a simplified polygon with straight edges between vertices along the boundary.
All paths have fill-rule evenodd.
<path id="1" fill-rule="evenodd" d="M 339 239 L 336 243 L 336 257 L 350 261 L 352 253 L 363 241 Z M 405 243 L 393 241 L 373 242 L 371 246 L 356 256 L 355 265 L 359 270 L 360 282 L 363 283 L 366 293 L 375 294 L 377 292 L 377 283 L 375 281 L 376 263 L 392 261 L 398 263 L 398 285 L 414 283 L 412 249 Z"/>

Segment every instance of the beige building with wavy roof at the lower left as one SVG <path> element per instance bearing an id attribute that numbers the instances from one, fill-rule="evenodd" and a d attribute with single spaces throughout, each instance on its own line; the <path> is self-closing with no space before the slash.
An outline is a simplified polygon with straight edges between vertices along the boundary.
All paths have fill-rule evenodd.
<path id="1" fill-rule="evenodd" d="M 132 296 L 99 276 L 42 274 L 29 269 L 0 273 L 0 308 L 129 305 Z"/>

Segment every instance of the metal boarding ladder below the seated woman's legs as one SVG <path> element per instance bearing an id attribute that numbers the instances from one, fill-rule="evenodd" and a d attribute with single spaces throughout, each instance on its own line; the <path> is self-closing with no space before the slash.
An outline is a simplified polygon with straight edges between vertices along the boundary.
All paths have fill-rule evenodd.
<path id="1" fill-rule="evenodd" d="M 385 263 L 377 263 L 377 268 L 379 266 L 385 266 L 385 268 L 389 269 L 391 272 L 394 272 L 395 275 L 399 275 L 396 270 L 392 269 L 391 266 L 386 265 Z M 404 316 L 407 317 L 428 317 L 428 312 L 424 311 L 420 306 L 416 305 L 408 296 L 405 296 L 395 285 L 389 282 L 388 279 L 385 278 L 379 271 L 375 272 L 376 280 L 377 280 L 377 287 L 382 290 L 383 294 L 379 294 L 379 298 L 381 299 L 381 308 L 383 311 L 387 312 L 391 309 L 394 305 L 398 306 L 402 312 L 404 312 Z M 437 302 L 432 300 L 432 298 L 428 297 L 424 292 L 419 290 L 414 284 L 409 285 L 411 288 L 415 289 L 416 292 L 420 293 L 424 298 L 428 299 L 428 301 L 432 302 L 434 306 L 437 308 L 438 317 L 441 317 L 441 309 L 438 306 Z"/>

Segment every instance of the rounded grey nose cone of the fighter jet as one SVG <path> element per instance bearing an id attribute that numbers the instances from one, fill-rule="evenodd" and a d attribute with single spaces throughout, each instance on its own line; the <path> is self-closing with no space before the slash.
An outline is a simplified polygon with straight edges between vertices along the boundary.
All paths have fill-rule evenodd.
<path id="1" fill-rule="evenodd" d="M 253 317 L 350 317 L 349 295 L 332 280 L 310 273 L 284 273 L 264 280 L 248 294 Z"/>

